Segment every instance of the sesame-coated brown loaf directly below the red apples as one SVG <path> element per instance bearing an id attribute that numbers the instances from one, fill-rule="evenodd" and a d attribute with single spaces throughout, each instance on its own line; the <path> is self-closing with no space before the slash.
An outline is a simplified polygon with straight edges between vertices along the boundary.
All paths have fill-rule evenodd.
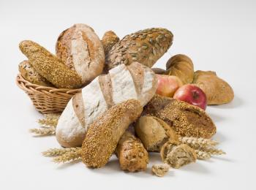
<path id="1" fill-rule="evenodd" d="M 187 102 L 155 95 L 143 113 L 162 119 L 181 136 L 208 139 L 216 133 L 216 126 L 206 112 Z"/>

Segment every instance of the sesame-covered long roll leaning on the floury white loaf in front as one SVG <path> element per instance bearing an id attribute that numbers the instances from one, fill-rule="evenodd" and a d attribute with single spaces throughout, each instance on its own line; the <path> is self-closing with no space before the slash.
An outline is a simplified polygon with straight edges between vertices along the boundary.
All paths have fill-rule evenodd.
<path id="1" fill-rule="evenodd" d="M 143 107 L 135 99 L 129 99 L 110 107 L 91 123 L 83 140 L 81 156 L 87 167 L 103 167 L 116 149 L 120 137 L 129 124 L 141 114 Z"/>

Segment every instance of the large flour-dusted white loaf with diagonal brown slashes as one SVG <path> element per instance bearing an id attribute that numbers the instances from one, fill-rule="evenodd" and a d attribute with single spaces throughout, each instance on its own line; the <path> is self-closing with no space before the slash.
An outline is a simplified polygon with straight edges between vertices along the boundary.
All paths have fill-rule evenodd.
<path id="1" fill-rule="evenodd" d="M 144 106 L 156 90 L 157 77 L 148 67 L 138 62 L 118 65 L 70 99 L 59 118 L 56 138 L 64 147 L 80 146 L 89 125 L 99 115 L 127 99 L 137 99 Z"/>

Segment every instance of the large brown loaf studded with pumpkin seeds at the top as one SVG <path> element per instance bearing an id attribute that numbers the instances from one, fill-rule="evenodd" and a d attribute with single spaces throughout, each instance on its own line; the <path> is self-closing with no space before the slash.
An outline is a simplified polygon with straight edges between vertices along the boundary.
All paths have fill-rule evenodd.
<path id="1" fill-rule="evenodd" d="M 173 34 L 165 28 L 148 28 L 129 34 L 116 43 L 105 59 L 105 69 L 118 64 L 132 64 L 138 61 L 148 67 L 168 50 L 173 42 Z"/>

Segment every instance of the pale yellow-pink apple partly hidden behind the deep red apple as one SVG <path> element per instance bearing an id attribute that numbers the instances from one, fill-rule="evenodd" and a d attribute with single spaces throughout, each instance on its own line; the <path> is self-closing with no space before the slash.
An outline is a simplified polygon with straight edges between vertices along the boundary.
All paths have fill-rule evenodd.
<path id="1" fill-rule="evenodd" d="M 173 94 L 182 86 L 181 80 L 176 76 L 157 75 L 157 94 L 173 97 Z"/>

